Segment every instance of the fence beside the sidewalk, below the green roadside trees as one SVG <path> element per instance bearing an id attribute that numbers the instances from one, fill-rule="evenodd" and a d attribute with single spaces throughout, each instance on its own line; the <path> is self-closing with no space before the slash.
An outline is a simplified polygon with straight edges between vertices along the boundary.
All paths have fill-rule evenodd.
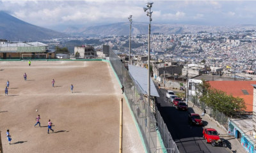
<path id="1" fill-rule="evenodd" d="M 212 117 L 214 120 L 218 121 L 226 130 L 228 129 L 228 117 L 224 115 L 224 113 L 219 112 L 216 109 L 213 109 L 207 105 L 205 105 L 204 101 L 200 101 L 197 96 L 188 96 L 188 101 L 191 101 L 193 105 L 200 108 L 202 111 L 205 109 L 206 113 Z"/>

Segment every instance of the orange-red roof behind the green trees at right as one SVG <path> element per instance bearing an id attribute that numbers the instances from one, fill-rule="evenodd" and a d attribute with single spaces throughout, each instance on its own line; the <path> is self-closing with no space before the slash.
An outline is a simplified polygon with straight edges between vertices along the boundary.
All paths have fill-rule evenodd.
<path id="1" fill-rule="evenodd" d="M 246 111 L 252 112 L 253 105 L 253 86 L 256 81 L 209 81 L 211 87 L 224 91 L 227 94 L 243 98 L 246 105 Z M 246 90 L 249 95 L 245 95 L 242 90 Z"/>

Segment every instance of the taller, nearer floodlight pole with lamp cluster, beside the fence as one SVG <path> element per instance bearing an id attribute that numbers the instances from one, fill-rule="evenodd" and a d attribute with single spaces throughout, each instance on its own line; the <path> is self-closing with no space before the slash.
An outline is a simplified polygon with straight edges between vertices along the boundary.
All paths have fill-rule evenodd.
<path id="1" fill-rule="evenodd" d="M 147 8 L 143 8 L 143 10 L 147 12 L 147 16 L 149 17 L 149 24 L 148 24 L 148 117 L 147 117 L 147 127 L 148 127 L 148 132 L 150 132 L 150 24 L 152 21 L 152 13 L 151 11 L 153 3 L 147 3 Z"/>

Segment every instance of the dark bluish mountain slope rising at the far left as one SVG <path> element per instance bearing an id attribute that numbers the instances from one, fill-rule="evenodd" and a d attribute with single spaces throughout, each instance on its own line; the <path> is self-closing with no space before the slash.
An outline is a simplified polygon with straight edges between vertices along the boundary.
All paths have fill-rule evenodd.
<path id="1" fill-rule="evenodd" d="M 40 41 L 67 37 L 67 34 L 38 27 L 0 11 L 0 38 L 11 41 Z"/>

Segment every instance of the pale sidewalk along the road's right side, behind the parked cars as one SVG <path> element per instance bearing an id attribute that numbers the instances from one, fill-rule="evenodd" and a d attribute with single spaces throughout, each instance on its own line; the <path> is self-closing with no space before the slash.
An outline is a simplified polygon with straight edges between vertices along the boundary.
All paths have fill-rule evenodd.
<path id="1" fill-rule="evenodd" d="M 184 93 L 184 91 L 180 91 L 179 89 L 172 89 L 170 87 L 163 87 L 163 84 L 161 84 L 161 82 L 158 82 L 157 80 L 154 80 L 154 78 L 152 78 L 152 80 L 158 85 L 161 85 L 161 89 L 165 89 L 167 90 L 171 90 L 174 92 L 181 92 Z M 162 95 L 161 95 L 162 96 Z M 191 102 L 188 103 L 189 106 L 189 110 L 191 112 L 195 112 L 198 113 L 199 115 L 202 114 L 202 110 L 200 110 L 199 108 L 196 108 L 196 106 L 193 107 L 193 104 Z M 220 126 L 218 124 L 216 124 L 216 122 L 214 122 L 213 119 L 211 119 L 211 117 L 208 117 L 208 115 L 202 116 L 202 120 L 204 120 L 204 128 L 214 128 L 218 131 L 218 133 L 220 133 L 220 137 L 225 139 L 225 141 L 227 142 L 227 148 L 230 149 L 230 152 L 232 153 L 246 153 L 246 150 L 243 148 L 243 146 L 241 145 L 240 142 L 238 142 L 238 140 L 236 138 L 234 138 L 234 136 L 227 136 L 227 131 L 225 131 L 223 128 L 220 128 Z M 223 135 L 223 136 L 221 136 Z"/>

